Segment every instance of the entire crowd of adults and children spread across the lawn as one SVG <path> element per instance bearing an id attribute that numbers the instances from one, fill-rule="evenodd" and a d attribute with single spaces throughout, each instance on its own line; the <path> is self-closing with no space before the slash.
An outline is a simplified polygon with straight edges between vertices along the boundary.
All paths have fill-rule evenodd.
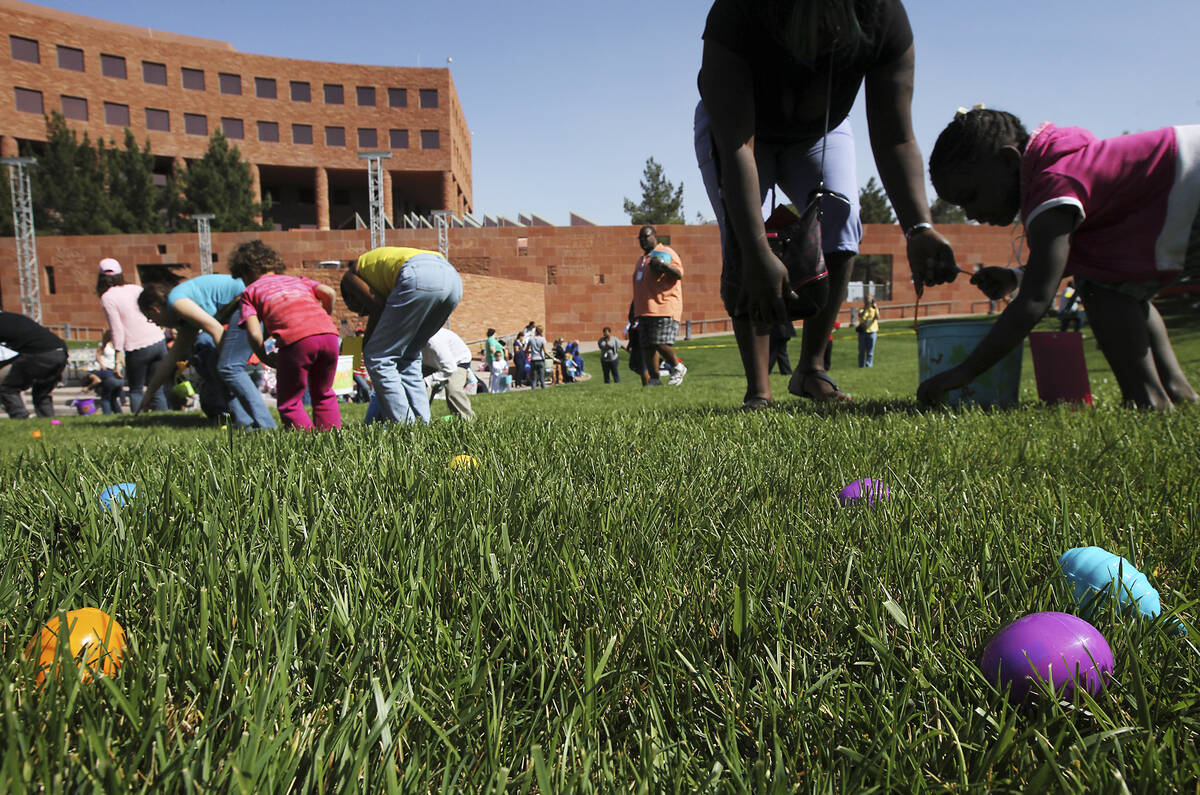
<path id="1" fill-rule="evenodd" d="M 930 215 L 912 127 L 913 83 L 913 34 L 901 0 L 713 2 L 703 32 L 694 135 L 720 227 L 721 298 L 745 376 L 743 408 L 773 402 L 772 367 L 791 370 L 780 358 L 787 336 L 782 329 L 802 318 L 799 360 L 788 391 L 821 402 L 851 400 L 829 376 L 828 357 L 863 233 L 848 114 L 864 86 L 870 147 L 907 241 L 918 297 L 964 273 Z M 1086 301 L 1087 319 L 1127 402 L 1169 408 L 1200 400 L 1151 303 L 1163 288 L 1200 276 L 1200 157 L 1192 156 L 1198 150 L 1200 126 L 1098 139 L 1086 130 L 1050 122 L 1027 131 L 1012 113 L 961 108 L 932 149 L 932 185 L 970 220 L 996 226 L 1020 220 L 1028 261 L 971 276 L 994 301 L 1015 298 L 962 364 L 920 384 L 918 399 L 936 402 L 986 371 L 1045 316 L 1063 279 L 1073 277 L 1074 300 L 1064 311 L 1078 327 L 1081 317 L 1074 307 Z M 797 234 L 790 235 L 793 243 L 786 252 L 773 249 L 761 211 L 776 185 L 794 207 L 820 210 L 797 216 Z M 634 270 L 626 347 L 643 385 L 662 383 L 660 366 L 667 383 L 678 385 L 688 372 L 674 351 L 683 262 L 653 226 L 638 231 L 638 243 L 642 256 Z M 337 333 L 329 318 L 335 294 L 311 280 L 283 275 L 277 256 L 258 253 L 262 261 L 242 252 L 244 264 L 230 267 L 232 280 L 240 280 L 244 289 L 228 317 L 210 311 L 217 310 L 217 292 L 204 303 L 206 291 L 217 289 L 215 282 L 185 282 L 166 295 L 156 293 L 146 300 L 156 300 L 157 309 L 145 311 L 161 312 L 162 323 L 190 342 L 210 385 L 202 404 L 223 405 L 247 428 L 269 428 L 269 418 L 247 396 L 244 373 L 233 372 L 232 363 L 244 370 L 242 354 L 253 352 L 278 366 L 283 425 L 336 428 L 336 401 L 328 396 L 337 357 Z M 233 289 L 232 282 L 222 282 L 221 289 Z M 112 394 L 115 382 L 104 373 L 120 373 L 134 412 L 144 404 L 164 407 L 160 387 L 178 357 L 168 354 L 163 328 L 139 309 L 142 287 L 127 285 L 120 263 L 104 259 L 97 293 L 115 363 L 97 367 L 95 385 Z M 373 387 L 370 420 L 428 422 L 428 393 L 454 388 L 452 377 L 426 381 L 421 351 L 461 294 L 455 269 L 431 251 L 377 249 L 350 268 L 342 298 L 368 317 L 364 364 Z M 874 363 L 874 311 L 864 305 L 866 319 L 857 324 L 860 366 Z M 32 387 L 36 411 L 53 411 L 47 384 L 61 375 L 65 343 L 10 315 L 0 318 L 0 342 L 16 358 L 0 384 L 0 401 L 10 416 L 24 416 L 19 391 Z M 606 382 L 619 378 L 619 353 L 611 340 L 606 329 L 598 343 Z M 550 343 L 534 324 L 510 346 L 490 334 L 485 363 L 488 385 L 497 391 L 511 384 L 544 388 L 547 378 L 551 384 L 569 383 L 583 375 L 578 343 Z M 305 395 L 312 419 L 304 413 Z"/>

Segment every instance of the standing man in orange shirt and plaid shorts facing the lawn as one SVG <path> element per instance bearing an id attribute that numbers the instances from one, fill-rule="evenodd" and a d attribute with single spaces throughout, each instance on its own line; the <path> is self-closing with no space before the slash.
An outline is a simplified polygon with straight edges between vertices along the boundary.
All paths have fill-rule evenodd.
<path id="1" fill-rule="evenodd" d="M 653 226 L 643 226 L 637 241 L 643 253 L 634 268 L 632 315 L 646 359 L 642 385 L 658 382 L 661 355 L 671 367 L 667 383 L 678 387 L 688 375 L 688 367 L 674 352 L 683 315 L 683 262 L 673 249 L 659 243 Z"/>

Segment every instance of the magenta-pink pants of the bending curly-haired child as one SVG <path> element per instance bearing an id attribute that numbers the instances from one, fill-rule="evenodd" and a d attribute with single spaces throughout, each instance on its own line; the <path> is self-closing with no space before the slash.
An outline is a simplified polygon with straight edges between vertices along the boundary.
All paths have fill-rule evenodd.
<path id="1" fill-rule="evenodd" d="M 317 334 L 280 346 L 275 399 L 284 428 L 328 431 L 342 426 L 342 412 L 334 394 L 337 354 L 336 334 Z M 305 387 L 312 400 L 312 419 L 304 410 Z"/>

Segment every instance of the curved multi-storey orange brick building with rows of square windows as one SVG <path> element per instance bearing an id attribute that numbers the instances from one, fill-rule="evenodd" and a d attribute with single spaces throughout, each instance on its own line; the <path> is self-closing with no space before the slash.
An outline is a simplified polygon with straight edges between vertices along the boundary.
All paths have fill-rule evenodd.
<path id="1" fill-rule="evenodd" d="M 283 229 L 368 219 L 366 162 L 384 165 L 389 219 L 473 210 L 470 132 L 446 68 L 239 53 L 232 44 L 0 0 L 0 155 L 46 141 L 58 110 L 94 141 L 133 131 L 156 172 L 204 156 L 221 130 Z M 36 154 L 36 153 L 35 153 Z"/>

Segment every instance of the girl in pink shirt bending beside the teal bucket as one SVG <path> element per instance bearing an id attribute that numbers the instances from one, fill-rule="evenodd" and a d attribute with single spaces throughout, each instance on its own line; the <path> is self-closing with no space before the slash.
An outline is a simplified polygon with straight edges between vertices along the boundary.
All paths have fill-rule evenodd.
<path id="1" fill-rule="evenodd" d="M 1075 279 L 1126 402 L 1198 400 L 1150 299 L 1200 274 L 1200 126 L 1098 139 L 1046 122 L 1028 133 L 1013 114 L 978 107 L 937 138 L 929 175 L 971 220 L 1008 226 L 1020 214 L 1030 259 L 971 279 L 995 300 L 1020 292 L 961 365 L 920 385 L 920 400 L 965 385 L 1019 345 L 1063 276 Z"/>

